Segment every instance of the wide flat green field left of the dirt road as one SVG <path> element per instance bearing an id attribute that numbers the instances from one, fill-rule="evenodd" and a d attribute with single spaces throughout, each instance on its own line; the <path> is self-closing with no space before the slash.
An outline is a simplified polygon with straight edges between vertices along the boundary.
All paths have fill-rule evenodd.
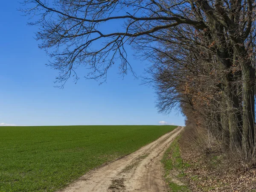
<path id="1" fill-rule="evenodd" d="M 176 126 L 0 127 L 0 191 L 52 192 Z"/>

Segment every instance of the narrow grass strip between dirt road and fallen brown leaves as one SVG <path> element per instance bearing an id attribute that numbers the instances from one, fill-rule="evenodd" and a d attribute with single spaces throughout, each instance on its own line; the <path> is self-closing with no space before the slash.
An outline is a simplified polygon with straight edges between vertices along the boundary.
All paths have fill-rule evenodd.
<path id="1" fill-rule="evenodd" d="M 185 176 L 183 169 L 190 165 L 188 163 L 183 163 L 180 156 L 179 139 L 180 135 L 171 143 L 161 160 L 165 170 L 164 177 L 170 192 L 190 192 L 189 188 L 182 180 L 182 177 Z"/>

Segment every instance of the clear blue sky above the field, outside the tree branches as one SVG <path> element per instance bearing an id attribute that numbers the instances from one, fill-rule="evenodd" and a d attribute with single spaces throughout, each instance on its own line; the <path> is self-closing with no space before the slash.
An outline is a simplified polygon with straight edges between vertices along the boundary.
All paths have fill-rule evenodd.
<path id="1" fill-rule="evenodd" d="M 64 89 L 53 87 L 56 71 L 45 66 L 49 58 L 33 38 L 37 27 L 26 25 L 19 7 L 12 0 L 0 8 L 0 125 L 184 125 L 177 111 L 157 113 L 152 87 L 140 85 L 131 73 L 119 78 L 117 68 L 100 86 L 80 78 L 77 84 L 70 79 Z M 147 62 L 128 52 L 134 71 L 142 75 Z"/>

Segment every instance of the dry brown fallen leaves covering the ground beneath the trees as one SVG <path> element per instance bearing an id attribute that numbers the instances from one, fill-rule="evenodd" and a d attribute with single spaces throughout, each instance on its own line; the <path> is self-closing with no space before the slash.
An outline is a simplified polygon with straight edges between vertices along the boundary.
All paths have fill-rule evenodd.
<path id="1" fill-rule="evenodd" d="M 187 143 L 187 144 L 186 144 Z M 202 154 L 191 143 L 180 140 L 183 161 L 191 166 L 184 170 L 193 192 L 256 192 L 256 169 L 223 163 L 222 154 Z M 198 146 L 197 146 L 198 147 Z"/>

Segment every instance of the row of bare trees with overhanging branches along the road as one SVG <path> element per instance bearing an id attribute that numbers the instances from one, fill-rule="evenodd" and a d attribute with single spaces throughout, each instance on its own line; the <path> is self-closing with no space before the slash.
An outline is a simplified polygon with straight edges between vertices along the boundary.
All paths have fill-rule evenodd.
<path id="1" fill-rule="evenodd" d="M 132 71 L 131 45 L 151 67 L 160 112 L 178 106 L 230 150 L 255 152 L 255 1 L 26 0 L 56 81 L 106 78 L 114 63 Z M 115 23 L 105 32 L 102 24 Z M 105 24 L 104 24 L 105 23 Z"/>

